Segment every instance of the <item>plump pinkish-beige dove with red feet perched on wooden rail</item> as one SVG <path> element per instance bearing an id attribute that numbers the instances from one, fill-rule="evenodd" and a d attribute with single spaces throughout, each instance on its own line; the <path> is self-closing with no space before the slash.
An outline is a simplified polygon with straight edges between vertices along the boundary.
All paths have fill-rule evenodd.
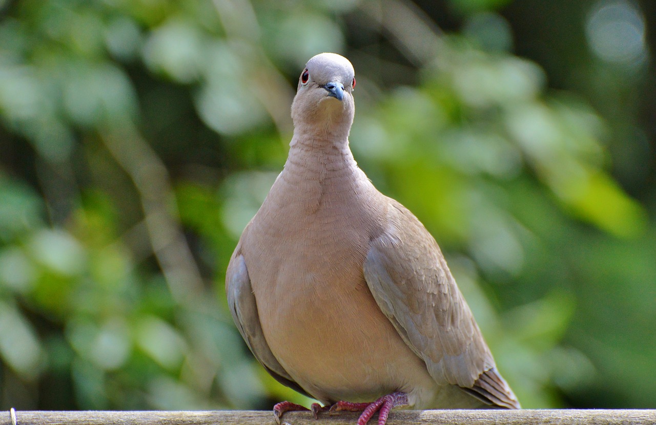
<path id="1" fill-rule="evenodd" d="M 359 169 L 355 87 L 339 54 L 300 73 L 287 161 L 226 271 L 239 333 L 276 380 L 323 403 L 315 418 L 520 409 L 434 237 Z M 282 401 L 274 416 L 300 410 Z"/>

